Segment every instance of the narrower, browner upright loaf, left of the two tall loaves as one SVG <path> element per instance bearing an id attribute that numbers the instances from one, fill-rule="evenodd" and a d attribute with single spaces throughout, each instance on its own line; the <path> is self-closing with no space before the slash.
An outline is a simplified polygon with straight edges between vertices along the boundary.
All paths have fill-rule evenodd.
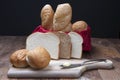
<path id="1" fill-rule="evenodd" d="M 46 4 L 41 10 L 41 23 L 44 29 L 50 30 L 53 26 L 54 11 L 49 4 Z"/>

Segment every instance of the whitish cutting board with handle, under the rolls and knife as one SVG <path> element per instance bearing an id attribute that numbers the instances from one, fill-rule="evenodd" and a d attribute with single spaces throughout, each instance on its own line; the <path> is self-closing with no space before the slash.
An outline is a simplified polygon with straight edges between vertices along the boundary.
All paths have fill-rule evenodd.
<path id="1" fill-rule="evenodd" d="M 61 69 L 60 65 L 68 62 L 70 64 L 81 64 L 86 59 L 70 59 L 70 60 L 51 60 L 48 67 L 42 70 L 34 70 L 30 67 L 28 68 L 14 68 L 10 67 L 8 71 L 8 77 L 14 78 L 78 78 L 80 75 L 89 69 L 98 69 L 98 68 L 107 68 L 111 69 L 113 67 L 113 63 L 111 60 L 105 60 L 101 62 L 94 62 L 91 64 L 89 62 L 88 65 L 69 68 L 69 69 Z"/>

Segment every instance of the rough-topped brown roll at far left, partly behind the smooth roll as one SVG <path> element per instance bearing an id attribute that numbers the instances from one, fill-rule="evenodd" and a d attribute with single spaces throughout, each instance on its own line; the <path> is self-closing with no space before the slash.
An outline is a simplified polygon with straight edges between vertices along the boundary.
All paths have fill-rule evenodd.
<path id="1" fill-rule="evenodd" d="M 10 62 L 13 64 L 14 67 L 27 67 L 27 61 L 26 61 L 26 55 L 28 53 L 28 50 L 21 49 L 15 51 L 10 56 Z"/>

